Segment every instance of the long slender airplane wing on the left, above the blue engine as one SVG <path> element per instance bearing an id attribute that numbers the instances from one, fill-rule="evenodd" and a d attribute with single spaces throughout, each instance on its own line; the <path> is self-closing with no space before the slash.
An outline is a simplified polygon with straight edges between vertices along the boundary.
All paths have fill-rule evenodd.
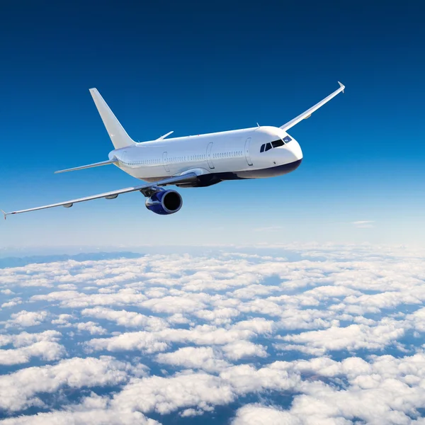
<path id="1" fill-rule="evenodd" d="M 3 212 L 4 220 L 6 220 L 6 216 L 11 214 L 21 214 L 21 212 L 45 210 L 46 208 L 54 208 L 54 207 L 61 207 L 61 206 L 65 208 L 70 208 L 72 207 L 72 205 L 74 205 L 74 203 L 85 202 L 86 200 L 93 200 L 93 199 L 99 199 L 99 198 L 115 199 L 118 197 L 118 195 L 121 195 L 121 193 L 142 191 L 143 189 L 152 188 L 154 186 L 166 186 L 168 184 L 188 183 L 190 181 L 196 181 L 196 179 L 198 179 L 198 176 L 196 175 L 196 173 L 187 173 L 187 174 L 183 174 L 182 176 L 169 177 L 168 179 L 155 181 L 154 183 L 146 183 L 146 184 L 143 184 L 142 186 L 134 186 L 131 188 L 118 189 L 118 191 L 111 191 L 111 192 L 99 193 L 98 195 L 86 196 L 86 198 L 65 200 L 64 202 L 54 203 L 50 205 L 42 205 L 41 207 L 28 208 L 28 210 L 19 210 L 19 211 L 11 211 L 11 212 L 4 212 L 4 210 L 1 210 L 1 212 Z"/>

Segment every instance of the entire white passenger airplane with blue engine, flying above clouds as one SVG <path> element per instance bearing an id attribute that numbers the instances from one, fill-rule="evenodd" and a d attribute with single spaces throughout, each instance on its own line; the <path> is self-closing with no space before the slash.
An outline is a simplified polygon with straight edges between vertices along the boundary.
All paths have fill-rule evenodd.
<path id="1" fill-rule="evenodd" d="M 166 138 L 173 133 L 171 131 L 148 142 L 132 140 L 97 89 L 89 89 L 115 149 L 109 153 L 107 161 L 55 173 L 113 164 L 147 183 L 26 210 L 1 212 L 6 220 L 8 215 L 21 212 L 59 206 L 70 208 L 86 200 L 115 199 L 123 193 L 139 191 L 147 198 L 145 205 L 148 210 L 159 215 L 170 215 L 181 209 L 183 199 L 179 192 L 165 189 L 165 186 L 196 188 L 227 180 L 263 179 L 288 174 L 300 166 L 302 150 L 287 130 L 301 120 L 310 118 L 314 111 L 341 91 L 344 93 L 345 86 L 339 81 L 338 84 L 338 90 L 280 127 L 257 124 L 257 127 L 242 130 Z"/>

